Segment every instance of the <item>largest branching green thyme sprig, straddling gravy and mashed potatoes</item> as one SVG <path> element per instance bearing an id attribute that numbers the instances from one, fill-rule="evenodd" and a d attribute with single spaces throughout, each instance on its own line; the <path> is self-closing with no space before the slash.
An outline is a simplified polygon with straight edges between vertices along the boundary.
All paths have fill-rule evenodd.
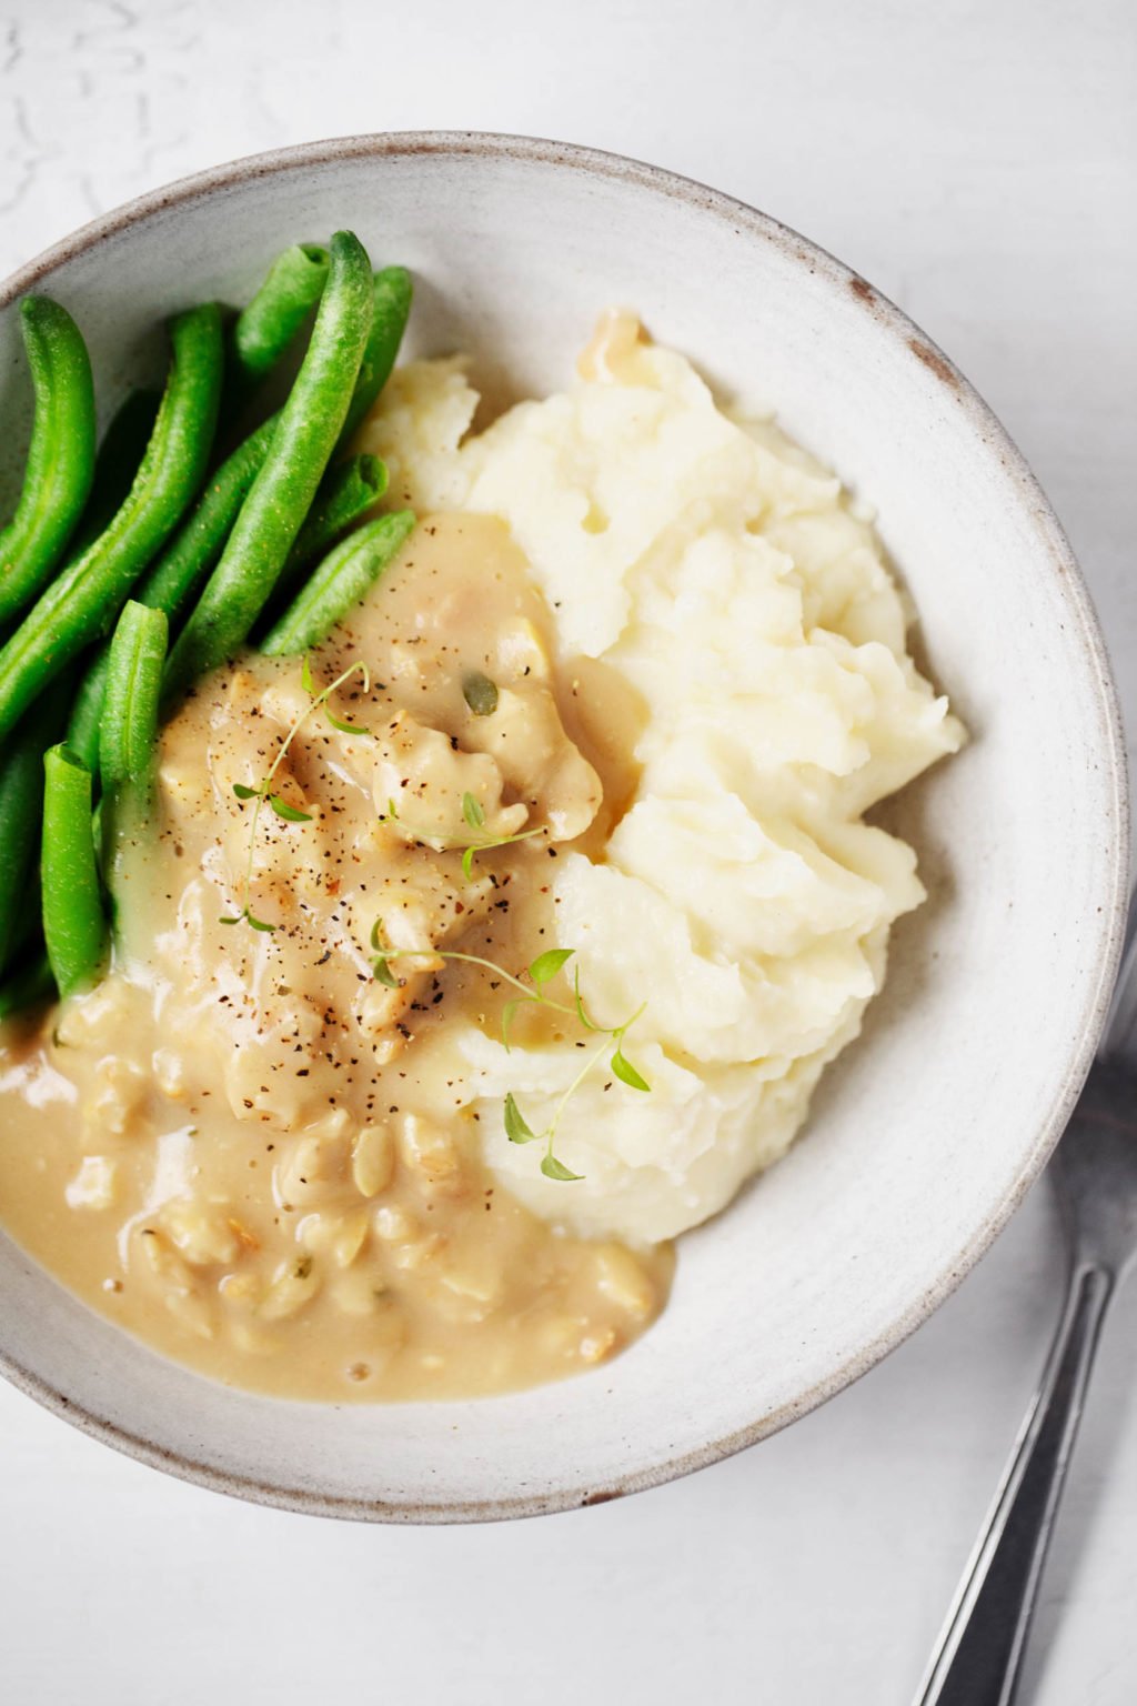
<path id="1" fill-rule="evenodd" d="M 542 1131 L 534 1131 L 532 1126 L 527 1123 L 525 1116 L 522 1114 L 517 1104 L 517 1095 L 513 1094 L 513 1090 L 510 1090 L 505 1099 L 503 1124 L 506 1138 L 510 1140 L 510 1143 L 545 1145 L 545 1153 L 540 1158 L 540 1170 L 545 1175 L 545 1179 L 557 1179 L 561 1182 L 583 1179 L 583 1174 L 574 1174 L 569 1167 L 564 1165 L 563 1160 L 557 1160 L 556 1138 L 564 1109 L 568 1107 L 574 1094 L 580 1090 L 580 1087 L 585 1083 L 588 1075 L 593 1071 L 593 1068 L 600 1065 L 605 1054 L 609 1054 L 609 1049 L 612 1049 L 609 1066 L 612 1068 L 614 1075 L 620 1080 L 620 1083 L 626 1083 L 632 1090 L 643 1090 L 643 1092 L 651 1090 L 651 1085 L 648 1083 L 644 1075 L 636 1066 L 632 1066 L 632 1063 L 624 1054 L 624 1037 L 627 1036 L 631 1027 L 636 1024 L 636 1020 L 646 1008 L 648 1005 L 646 1001 L 643 1001 L 641 1007 L 636 1008 L 632 1017 L 626 1018 L 622 1025 L 598 1025 L 588 1013 L 588 1008 L 585 1007 L 580 991 L 580 966 L 573 967 L 571 1005 L 568 1005 L 566 1001 L 556 1001 L 551 995 L 545 993 L 545 986 L 552 983 L 557 972 L 564 971 L 568 962 L 573 959 L 576 952 L 574 949 L 547 949 L 544 954 L 539 954 L 537 959 L 530 960 L 530 964 L 527 966 L 528 983 L 522 983 L 522 979 L 515 978 L 513 972 L 508 972 L 505 966 L 498 966 L 496 960 L 484 959 L 481 954 L 450 954 L 445 952 L 443 949 L 387 947 L 384 945 L 382 940 L 378 920 L 372 928 L 372 950 L 375 952 L 375 962 L 373 962 L 375 978 L 387 989 L 402 988 L 402 981 L 395 978 L 395 974 L 390 969 L 390 960 L 397 959 L 443 959 L 443 960 L 460 960 L 465 966 L 481 966 L 484 971 L 493 972 L 493 976 L 498 978 L 501 983 L 506 983 L 510 984 L 510 988 L 518 989 L 520 995 L 513 996 L 501 1008 L 501 1042 L 505 1044 L 506 1054 L 511 1053 L 510 1029 L 513 1025 L 513 1018 L 517 1015 L 518 1007 L 525 1005 L 547 1007 L 552 1012 L 566 1013 L 569 1018 L 576 1018 L 585 1027 L 585 1030 L 593 1030 L 597 1036 L 603 1037 L 603 1042 L 597 1049 L 593 1049 L 593 1053 L 581 1065 L 581 1070 L 569 1083 L 568 1090 L 564 1090 L 564 1094 L 557 1100 L 557 1105 L 552 1111 L 552 1119 Z M 612 1047 L 612 1044 L 615 1044 L 615 1047 Z M 580 1046 L 583 1047 L 583 1044 Z"/>

